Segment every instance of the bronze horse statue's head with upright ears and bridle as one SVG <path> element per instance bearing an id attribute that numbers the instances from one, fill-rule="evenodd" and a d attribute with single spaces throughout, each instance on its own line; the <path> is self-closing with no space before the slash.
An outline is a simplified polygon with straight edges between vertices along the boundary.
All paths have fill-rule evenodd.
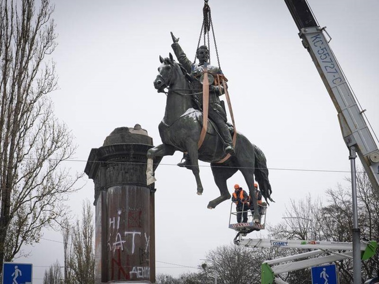
<path id="1" fill-rule="evenodd" d="M 162 58 L 159 56 L 161 66 L 158 67 L 159 74 L 154 80 L 154 87 L 158 90 L 158 93 L 164 92 L 164 88 L 169 88 L 174 84 L 174 75 L 178 70 L 178 64 L 172 58 L 172 54 L 169 54 L 169 58 Z M 180 67 L 179 67 L 180 70 Z"/>

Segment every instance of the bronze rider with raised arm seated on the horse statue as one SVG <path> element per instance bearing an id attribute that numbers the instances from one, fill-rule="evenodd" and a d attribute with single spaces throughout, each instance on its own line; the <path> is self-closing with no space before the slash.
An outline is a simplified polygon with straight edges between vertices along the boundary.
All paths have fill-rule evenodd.
<path id="1" fill-rule="evenodd" d="M 174 53 L 182 66 L 186 69 L 186 71 L 197 78 L 197 83 L 194 86 L 194 89 L 202 89 L 202 85 L 200 82 L 200 76 L 204 74 L 204 68 L 207 68 L 208 74 L 211 74 L 213 78 L 217 77 L 217 75 L 223 75 L 222 71 L 215 66 L 211 66 L 208 64 L 209 51 L 208 48 L 204 45 L 197 48 L 196 57 L 199 59 L 199 64 L 194 64 L 191 62 L 182 48 L 180 47 L 178 41 L 179 38 L 176 38 L 174 34 L 171 32 L 172 41 L 174 42 L 171 47 L 174 50 Z M 225 153 L 233 155 L 235 153 L 233 147 L 232 136 L 230 135 L 229 127 L 227 126 L 227 117 L 224 108 L 221 105 L 221 101 L 219 96 L 224 94 L 224 88 L 222 86 L 215 86 L 214 82 L 210 82 L 209 86 L 209 107 L 208 107 L 208 115 L 210 119 L 216 124 L 219 134 L 224 142 L 224 150 Z M 199 96 L 199 104 L 200 107 L 203 107 L 202 97 Z M 189 156 L 185 155 L 185 162 L 179 163 L 178 165 L 181 167 L 188 166 Z"/>

